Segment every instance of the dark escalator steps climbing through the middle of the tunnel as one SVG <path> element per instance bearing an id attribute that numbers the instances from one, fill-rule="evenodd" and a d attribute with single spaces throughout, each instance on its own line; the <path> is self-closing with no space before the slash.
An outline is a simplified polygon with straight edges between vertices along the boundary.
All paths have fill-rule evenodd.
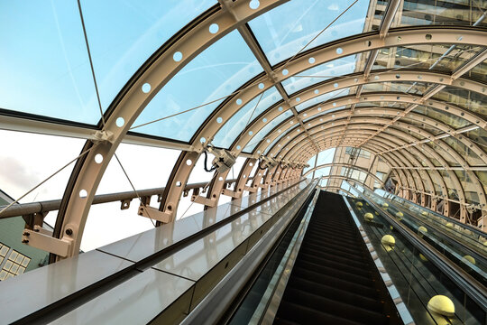
<path id="1" fill-rule="evenodd" d="M 393 310 L 345 201 L 321 191 L 274 324 L 390 324 Z"/>

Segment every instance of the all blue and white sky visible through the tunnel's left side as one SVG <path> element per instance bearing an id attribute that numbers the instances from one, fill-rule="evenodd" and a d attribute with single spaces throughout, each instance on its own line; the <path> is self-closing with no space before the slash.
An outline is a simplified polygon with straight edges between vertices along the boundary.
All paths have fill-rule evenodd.
<path id="1" fill-rule="evenodd" d="M 102 110 L 162 43 L 216 3 L 215 0 L 82 1 Z M 271 64 L 275 64 L 302 49 L 350 4 L 294 0 L 253 19 L 250 25 Z M 308 48 L 362 32 L 367 4 L 368 0 L 360 0 Z M 96 124 L 100 113 L 76 1 L 1 2 L 0 38 L 3 43 L 0 47 L 0 108 Z M 353 70 L 353 64 L 349 60 L 346 62 L 346 69 Z M 228 95 L 261 71 L 262 67 L 243 38 L 238 32 L 230 32 L 180 70 L 143 111 L 138 122 Z M 279 99 L 270 95 L 269 101 Z M 217 104 L 138 131 L 188 140 Z M 0 139 L 0 189 L 14 199 L 77 157 L 85 142 L 5 130 L 0 130 Z M 121 144 L 116 153 L 137 189 L 165 186 L 179 156 L 175 150 L 133 144 Z M 243 162 L 243 158 L 237 160 L 235 177 Z M 60 199 L 73 165 L 21 202 Z M 191 173 L 188 183 L 209 181 L 212 176 L 203 172 L 201 161 L 195 171 L 198 172 Z M 125 190 L 132 190 L 130 183 L 112 160 L 96 194 Z M 220 204 L 228 200 L 230 198 L 222 196 Z M 150 219 L 136 215 L 137 207 L 136 200 L 127 210 L 120 210 L 119 202 L 92 206 L 81 248 L 91 250 L 152 228 Z M 189 198 L 182 198 L 178 218 L 187 209 L 186 215 L 190 215 L 202 206 L 191 205 Z M 56 213 L 51 212 L 46 221 L 53 225 L 55 218 Z"/>

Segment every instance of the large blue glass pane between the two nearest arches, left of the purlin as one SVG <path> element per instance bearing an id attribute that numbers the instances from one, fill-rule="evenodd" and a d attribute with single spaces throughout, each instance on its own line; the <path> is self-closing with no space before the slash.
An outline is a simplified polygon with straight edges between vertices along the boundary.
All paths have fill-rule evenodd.
<path id="1" fill-rule="evenodd" d="M 138 127 L 135 131 L 188 142 L 223 98 L 260 72 L 262 67 L 240 34 L 231 32 L 170 79 L 134 125 L 172 117 Z M 200 107 L 202 104 L 207 105 Z M 198 108 L 182 113 L 194 107 Z M 179 115 L 173 116 L 175 114 Z"/>

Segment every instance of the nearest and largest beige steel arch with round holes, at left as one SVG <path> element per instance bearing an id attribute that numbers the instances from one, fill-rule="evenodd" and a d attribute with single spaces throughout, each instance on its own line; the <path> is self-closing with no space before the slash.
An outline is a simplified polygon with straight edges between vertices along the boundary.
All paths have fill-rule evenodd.
<path id="1" fill-rule="evenodd" d="M 126 135 L 136 117 L 142 112 L 156 93 L 188 62 L 201 51 L 221 39 L 228 32 L 233 31 L 240 23 L 249 21 L 253 17 L 271 10 L 285 1 L 268 1 L 257 9 L 249 7 L 246 1 L 234 3 L 233 11 L 208 11 L 207 15 L 188 25 L 157 53 L 147 60 L 137 71 L 130 82 L 117 96 L 105 116 L 105 125 L 99 123 L 101 131 L 96 134 L 96 141 L 88 140 L 83 147 L 82 155 L 78 159 L 69 184 L 61 202 L 53 237 L 60 238 L 63 244 L 68 244 L 66 256 L 78 255 L 81 237 L 85 227 L 87 214 L 90 209 L 96 188 L 101 180 L 106 166 L 115 153 L 118 144 Z M 235 14 L 236 13 L 236 14 Z M 236 18 L 238 17 L 238 18 Z M 218 32 L 209 32 L 212 23 L 218 25 Z M 182 53 L 182 60 L 173 60 L 173 54 Z M 144 93 L 142 86 L 148 83 L 151 91 Z M 118 122 L 117 122 L 118 121 Z M 119 126 L 121 125 L 121 126 Z M 103 156 L 102 163 L 95 162 L 96 154 Z M 181 189 L 184 186 L 181 187 Z M 87 196 L 80 193 L 87 193 Z M 60 257 L 66 257 L 60 256 Z M 54 262 L 51 255 L 51 262 Z"/>

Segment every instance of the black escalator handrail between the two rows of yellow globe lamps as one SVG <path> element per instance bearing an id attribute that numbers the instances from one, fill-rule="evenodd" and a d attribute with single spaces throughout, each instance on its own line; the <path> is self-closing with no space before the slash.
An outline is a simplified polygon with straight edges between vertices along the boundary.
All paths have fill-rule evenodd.
<path id="1" fill-rule="evenodd" d="M 473 302 L 476 302 L 483 311 L 487 312 L 487 290 L 482 283 L 479 283 L 472 277 L 472 275 L 467 274 L 460 266 L 455 265 L 447 259 L 443 254 L 436 250 L 435 247 L 428 244 L 424 239 L 418 237 L 411 229 L 393 218 L 389 212 L 379 209 L 377 204 L 368 200 L 367 197 L 365 197 L 360 190 L 356 189 L 354 185 L 350 183 L 348 184 L 358 192 L 361 199 L 369 203 L 374 209 L 381 211 L 382 217 L 385 218 L 402 237 L 406 238 L 411 245 L 416 247 L 433 265 L 436 265 L 443 274 L 446 274 L 452 282 L 461 288 Z"/>

